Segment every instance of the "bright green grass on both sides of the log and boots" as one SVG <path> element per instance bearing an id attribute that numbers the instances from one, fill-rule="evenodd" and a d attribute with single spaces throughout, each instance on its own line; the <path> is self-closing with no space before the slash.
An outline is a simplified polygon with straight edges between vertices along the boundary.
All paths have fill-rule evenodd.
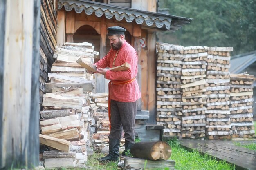
<path id="1" fill-rule="evenodd" d="M 218 161 L 209 155 L 201 155 L 198 151 L 192 152 L 182 148 L 177 140 L 168 141 L 172 148 L 171 160 L 175 160 L 175 170 L 235 170 L 235 166 L 226 161 Z M 88 156 L 87 166 L 95 170 L 117 170 L 117 162 L 99 163 L 97 158 L 103 154 L 94 153 Z M 169 170 L 169 168 L 157 168 L 153 170 Z"/>

